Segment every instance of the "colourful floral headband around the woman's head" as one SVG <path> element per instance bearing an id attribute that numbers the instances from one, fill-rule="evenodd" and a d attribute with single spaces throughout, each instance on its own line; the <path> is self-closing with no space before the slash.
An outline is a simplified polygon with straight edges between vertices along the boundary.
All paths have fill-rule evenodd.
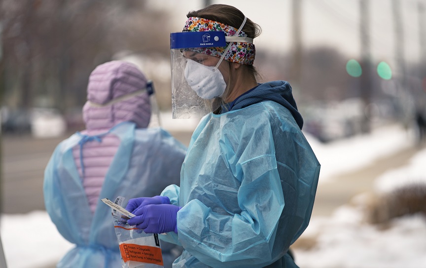
<path id="1" fill-rule="evenodd" d="M 221 31 L 225 32 L 225 36 L 233 37 L 237 33 L 238 29 L 235 29 L 232 26 L 203 18 L 190 17 L 183 27 L 183 32 L 209 32 L 209 31 Z M 247 38 L 247 34 L 243 31 L 240 31 L 238 37 Z M 226 45 L 229 43 L 227 42 Z M 222 57 L 223 52 L 225 52 L 226 47 L 198 47 L 185 49 L 191 50 L 198 53 L 207 54 L 214 57 Z M 230 62 L 238 62 L 240 64 L 253 65 L 254 55 L 256 50 L 253 43 L 238 41 L 233 42 L 229 50 L 226 52 L 224 57 L 225 60 Z"/>

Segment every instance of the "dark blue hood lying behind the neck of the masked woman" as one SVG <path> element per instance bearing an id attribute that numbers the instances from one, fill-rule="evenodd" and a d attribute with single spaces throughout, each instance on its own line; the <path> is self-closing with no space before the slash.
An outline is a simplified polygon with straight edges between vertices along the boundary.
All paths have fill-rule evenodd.
<path id="1" fill-rule="evenodd" d="M 264 101 L 274 101 L 287 108 L 293 115 L 294 120 L 296 120 L 297 125 L 302 129 L 303 118 L 297 111 L 296 102 L 291 93 L 291 86 L 287 81 L 278 80 L 259 84 L 227 106 L 231 107 L 230 111 L 234 111 Z"/>

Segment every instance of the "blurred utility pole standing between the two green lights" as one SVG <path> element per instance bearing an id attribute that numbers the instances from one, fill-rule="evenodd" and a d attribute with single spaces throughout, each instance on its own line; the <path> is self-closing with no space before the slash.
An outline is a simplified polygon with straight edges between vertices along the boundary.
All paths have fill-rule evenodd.
<path id="1" fill-rule="evenodd" d="M 361 41 L 361 68 L 362 75 L 360 77 L 360 97 L 364 104 L 364 117 L 362 119 L 361 131 L 369 133 L 370 126 L 370 102 L 372 90 L 371 77 L 371 51 L 370 51 L 370 7 L 369 0 L 359 1 L 360 12 L 360 41 Z"/>

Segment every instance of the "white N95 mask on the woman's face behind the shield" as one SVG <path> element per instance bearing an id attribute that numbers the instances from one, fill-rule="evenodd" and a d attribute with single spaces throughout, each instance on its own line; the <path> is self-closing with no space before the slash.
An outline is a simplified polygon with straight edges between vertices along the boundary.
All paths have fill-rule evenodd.
<path id="1" fill-rule="evenodd" d="M 187 59 L 184 76 L 192 90 L 202 99 L 221 97 L 225 92 L 225 80 L 214 66 L 205 66 Z"/>

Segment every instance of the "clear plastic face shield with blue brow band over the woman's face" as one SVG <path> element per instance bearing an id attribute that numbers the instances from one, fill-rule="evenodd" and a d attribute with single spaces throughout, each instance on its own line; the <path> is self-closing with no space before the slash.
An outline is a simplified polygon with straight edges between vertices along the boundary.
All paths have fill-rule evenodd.
<path id="1" fill-rule="evenodd" d="M 203 47 L 224 46 L 224 32 L 182 32 L 170 35 L 174 119 L 200 118 L 220 107 L 220 96 L 215 94 L 214 88 L 208 89 L 206 83 L 213 87 L 223 87 L 225 81 L 223 77 L 220 80 L 221 75 L 216 66 L 221 61 L 217 57 L 195 51 Z M 214 81 L 209 77 L 210 72 L 216 73 Z"/>

